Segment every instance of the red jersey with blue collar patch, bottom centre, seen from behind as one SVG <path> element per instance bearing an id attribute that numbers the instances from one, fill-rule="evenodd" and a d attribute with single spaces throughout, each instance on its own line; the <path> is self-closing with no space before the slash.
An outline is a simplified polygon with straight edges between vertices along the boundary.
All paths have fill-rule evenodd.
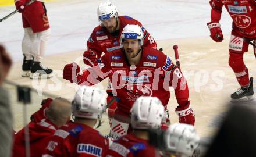
<path id="1" fill-rule="evenodd" d="M 160 156 L 147 140 L 128 134 L 114 141 L 106 152 L 106 157 Z"/>

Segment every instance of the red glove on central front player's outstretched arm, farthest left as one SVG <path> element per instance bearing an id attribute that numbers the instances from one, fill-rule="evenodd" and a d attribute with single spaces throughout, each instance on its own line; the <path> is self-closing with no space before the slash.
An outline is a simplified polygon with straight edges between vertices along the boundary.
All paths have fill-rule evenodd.
<path id="1" fill-rule="evenodd" d="M 73 83 L 73 81 L 80 81 L 80 67 L 79 65 L 75 63 L 70 63 L 65 65 L 63 69 L 63 79 L 69 80 L 70 83 Z"/>

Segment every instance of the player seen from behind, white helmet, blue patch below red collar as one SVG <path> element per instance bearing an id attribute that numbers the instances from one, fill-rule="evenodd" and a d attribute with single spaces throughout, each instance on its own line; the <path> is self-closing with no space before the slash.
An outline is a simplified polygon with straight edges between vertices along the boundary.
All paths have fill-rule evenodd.
<path id="1" fill-rule="evenodd" d="M 106 157 L 160 156 L 148 142 L 148 129 L 159 129 L 164 119 L 164 108 L 157 97 L 139 97 L 130 110 L 133 134 L 114 141 Z"/>

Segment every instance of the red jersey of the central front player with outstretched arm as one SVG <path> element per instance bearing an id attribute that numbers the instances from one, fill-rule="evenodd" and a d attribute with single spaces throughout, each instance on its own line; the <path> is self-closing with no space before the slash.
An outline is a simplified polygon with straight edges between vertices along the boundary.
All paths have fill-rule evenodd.
<path id="1" fill-rule="evenodd" d="M 128 115 L 131 106 L 141 95 L 158 97 L 163 105 L 168 104 L 169 86 L 175 88 L 178 104 L 187 105 L 189 90 L 186 79 L 172 63 L 170 57 L 157 49 L 148 47 L 144 47 L 141 53 L 137 66 L 131 66 L 127 62 L 123 51 L 105 53 L 97 60 L 94 67 L 83 72 L 79 84 L 97 84 L 109 77 L 113 95 L 120 98 L 117 108 Z"/>

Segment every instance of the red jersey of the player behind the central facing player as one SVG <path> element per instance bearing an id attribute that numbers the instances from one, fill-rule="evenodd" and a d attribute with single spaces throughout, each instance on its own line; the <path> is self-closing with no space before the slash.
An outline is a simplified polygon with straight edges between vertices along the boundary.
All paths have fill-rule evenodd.
<path id="1" fill-rule="evenodd" d="M 120 36 L 122 34 L 123 28 L 127 24 L 137 24 L 140 26 L 144 33 L 144 47 L 157 49 L 157 43 L 155 42 L 154 38 L 150 35 L 150 33 L 148 33 L 147 30 L 145 30 L 140 22 L 129 16 L 119 16 L 119 22 L 120 29 L 116 37 L 114 37 L 111 33 L 108 32 L 108 30 L 106 30 L 105 27 L 102 26 L 95 27 L 93 33 L 91 33 L 91 36 L 87 41 L 87 47 L 88 49 L 94 50 L 94 52 L 97 53 L 98 58 L 101 57 L 102 52 L 107 53 L 121 48 Z"/>

